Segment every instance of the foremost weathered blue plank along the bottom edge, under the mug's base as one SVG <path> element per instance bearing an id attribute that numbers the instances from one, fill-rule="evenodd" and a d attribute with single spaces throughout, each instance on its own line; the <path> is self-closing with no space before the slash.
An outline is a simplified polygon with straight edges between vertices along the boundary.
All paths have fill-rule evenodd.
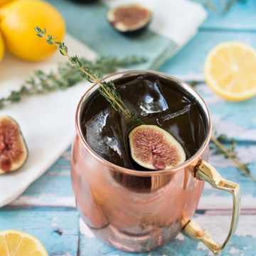
<path id="1" fill-rule="evenodd" d="M 221 242 L 228 232 L 230 212 L 206 211 L 196 214 L 195 219 L 213 237 Z M 68 221 L 67 221 L 68 220 Z M 49 255 L 77 255 L 78 225 L 80 229 L 80 255 L 132 255 L 115 250 L 95 238 L 95 235 L 79 219 L 75 210 L 55 210 L 53 208 L 30 208 L 1 210 L 1 230 L 14 228 L 23 230 L 41 239 Z M 255 213 L 247 212 L 240 216 L 238 230 L 223 255 L 255 255 Z M 67 242 L 68 241 L 68 242 Z M 140 255 L 208 255 L 201 243 L 178 235 L 173 242 L 150 253 Z"/>

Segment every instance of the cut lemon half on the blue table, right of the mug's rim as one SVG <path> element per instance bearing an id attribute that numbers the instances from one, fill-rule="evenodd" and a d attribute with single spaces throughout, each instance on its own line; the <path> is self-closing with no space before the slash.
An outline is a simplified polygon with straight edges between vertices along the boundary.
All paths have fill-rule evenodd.
<path id="1" fill-rule="evenodd" d="M 256 50 L 245 43 L 220 43 L 208 53 L 204 73 L 220 97 L 247 100 L 256 95 Z"/>

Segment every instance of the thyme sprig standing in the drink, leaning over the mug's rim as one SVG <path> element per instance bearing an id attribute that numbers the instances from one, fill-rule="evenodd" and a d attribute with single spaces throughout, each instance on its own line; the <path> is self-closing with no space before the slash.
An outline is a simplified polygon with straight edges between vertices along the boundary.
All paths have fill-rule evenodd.
<path id="1" fill-rule="evenodd" d="M 105 99 L 110 102 L 110 105 L 117 110 L 118 112 L 124 114 L 124 117 L 127 119 L 134 120 L 133 114 L 128 110 L 127 106 L 122 101 L 119 93 L 117 92 L 117 88 L 114 86 L 114 82 L 110 80 L 110 82 L 101 81 L 100 73 L 98 70 L 92 70 L 87 65 L 83 65 L 77 55 L 70 56 L 68 53 L 68 47 L 65 46 L 65 43 L 55 41 L 52 35 L 46 33 L 46 28 L 43 30 L 38 26 L 35 27 L 36 35 L 40 38 L 46 38 L 46 42 L 50 45 L 55 45 L 60 53 L 68 58 L 70 63 L 77 67 L 80 70 L 80 75 L 82 78 L 85 78 L 88 82 L 97 83 L 100 85 L 99 91 L 100 94 L 105 97 Z"/>

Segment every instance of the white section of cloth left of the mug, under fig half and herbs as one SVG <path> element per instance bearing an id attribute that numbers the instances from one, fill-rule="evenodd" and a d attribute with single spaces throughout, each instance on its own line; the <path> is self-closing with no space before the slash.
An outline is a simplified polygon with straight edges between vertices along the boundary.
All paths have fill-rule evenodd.
<path id="1" fill-rule="evenodd" d="M 74 38 L 66 36 L 65 42 L 80 56 L 96 58 L 96 53 Z M 0 63 L 0 97 L 21 87 L 33 70 L 51 70 L 57 63 L 66 61 L 55 53 L 42 63 L 28 63 L 7 55 Z M 28 97 L 22 102 L 0 110 L 0 116 L 9 115 L 21 126 L 28 144 L 28 161 L 21 170 L 0 175 L 0 206 L 13 201 L 40 177 L 70 145 L 75 134 L 75 109 L 80 97 L 90 87 L 81 82 L 65 91 Z"/>

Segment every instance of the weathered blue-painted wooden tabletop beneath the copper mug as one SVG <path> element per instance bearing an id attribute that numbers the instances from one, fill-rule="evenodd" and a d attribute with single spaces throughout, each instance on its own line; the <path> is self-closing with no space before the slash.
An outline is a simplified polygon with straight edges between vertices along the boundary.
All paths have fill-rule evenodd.
<path id="1" fill-rule="evenodd" d="M 51 2 L 58 4 L 57 1 Z M 75 36 L 74 31 L 69 32 Z M 84 36 L 82 41 L 93 48 L 93 38 Z M 225 102 L 203 83 L 206 54 L 223 41 L 243 41 L 256 48 L 256 1 L 237 4 L 221 16 L 209 14 L 193 40 L 159 70 L 184 79 L 201 81 L 196 89 L 210 107 L 215 129 L 238 140 L 238 154 L 256 176 L 256 98 L 241 103 Z M 223 255 L 256 255 L 256 184 L 221 155 L 212 154 L 210 163 L 215 165 L 223 177 L 240 183 L 242 188 L 240 223 Z M 216 193 L 210 186 L 206 186 L 195 218 L 216 240 L 222 241 L 228 232 L 231 207 L 229 196 Z M 22 196 L 1 208 L 0 230 L 9 228 L 36 235 L 46 246 L 49 255 L 129 255 L 97 240 L 80 220 L 70 181 L 70 149 Z M 210 254 L 201 243 L 178 235 L 168 245 L 142 255 Z"/>

